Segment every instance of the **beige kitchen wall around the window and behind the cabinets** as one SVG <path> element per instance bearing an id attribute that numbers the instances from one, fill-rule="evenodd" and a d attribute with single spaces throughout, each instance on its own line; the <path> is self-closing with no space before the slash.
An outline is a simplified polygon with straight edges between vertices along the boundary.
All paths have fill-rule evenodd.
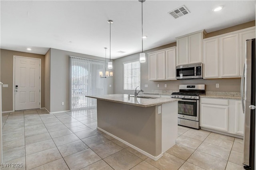
<path id="1" fill-rule="evenodd" d="M 255 26 L 255 21 L 247 22 L 244 24 L 240 24 L 238 26 L 233 26 L 230 28 L 226 28 L 223 30 L 219 30 L 216 32 L 211 32 L 206 34 L 206 38 L 217 36 L 220 34 L 225 34 L 228 32 L 233 32 L 236 30 L 249 28 Z M 176 46 L 176 42 L 170 43 L 167 45 L 163 45 L 160 47 L 156 47 L 154 49 L 146 50 L 145 53 L 149 53 L 152 51 L 157 51 L 160 49 L 164 49 L 167 47 Z M 115 68 L 115 81 L 114 81 L 114 93 L 124 93 L 124 94 L 133 94 L 134 90 L 127 91 L 124 90 L 124 71 L 123 71 L 123 62 L 133 61 L 139 59 L 139 53 L 135 53 L 132 55 L 128 55 L 125 57 L 121 57 L 115 59 L 114 68 Z M 148 55 L 146 54 L 146 62 L 140 64 L 140 80 L 141 80 L 141 88 L 144 92 L 151 92 L 152 90 L 160 89 L 160 90 L 178 90 L 180 84 L 205 84 L 206 91 L 232 91 L 232 92 L 240 92 L 240 78 L 230 78 L 230 79 L 192 79 L 192 80 L 172 80 L 172 81 L 149 81 L 148 80 Z M 220 88 L 216 88 L 216 83 L 220 84 Z M 157 87 L 157 85 L 160 87 Z M 167 87 L 164 87 L 164 84 L 167 84 Z M 146 88 L 144 85 L 148 85 Z"/>

